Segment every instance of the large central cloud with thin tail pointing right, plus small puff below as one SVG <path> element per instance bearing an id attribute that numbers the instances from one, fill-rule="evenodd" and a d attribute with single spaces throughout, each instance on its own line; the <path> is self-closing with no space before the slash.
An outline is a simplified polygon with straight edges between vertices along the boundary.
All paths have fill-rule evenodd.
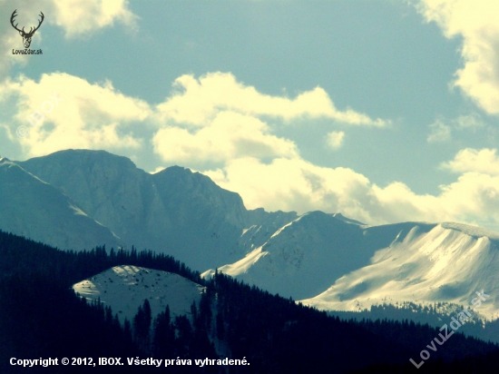
<path id="1" fill-rule="evenodd" d="M 152 140 L 154 151 L 164 162 L 195 168 L 222 166 L 246 157 L 265 162 L 279 157 L 297 158 L 296 144 L 273 134 L 275 126 L 270 121 L 282 123 L 305 116 L 311 121 L 323 117 L 350 124 L 386 123 L 350 109 L 338 111 L 319 87 L 290 99 L 261 94 L 255 87 L 238 82 L 232 74 L 220 72 L 199 79 L 182 75 L 173 87 L 173 94 L 156 107 L 160 129 Z M 343 132 L 330 133 L 330 146 L 341 146 L 343 136 Z"/>

